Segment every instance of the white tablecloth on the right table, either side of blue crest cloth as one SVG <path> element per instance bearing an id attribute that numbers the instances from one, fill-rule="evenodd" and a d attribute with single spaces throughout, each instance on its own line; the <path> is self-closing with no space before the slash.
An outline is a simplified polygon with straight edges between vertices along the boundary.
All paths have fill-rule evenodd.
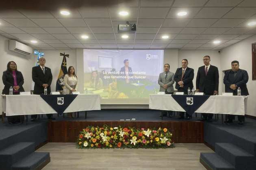
<path id="1" fill-rule="evenodd" d="M 245 115 L 247 96 L 210 96 L 196 113 Z M 185 110 L 171 97 L 171 94 L 150 94 L 149 108 L 156 110 Z"/>

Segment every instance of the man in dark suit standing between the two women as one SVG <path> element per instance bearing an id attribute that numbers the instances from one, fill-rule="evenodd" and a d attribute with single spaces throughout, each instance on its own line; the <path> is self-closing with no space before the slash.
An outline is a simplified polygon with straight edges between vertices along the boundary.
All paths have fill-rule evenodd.
<path id="1" fill-rule="evenodd" d="M 39 58 L 39 66 L 32 68 L 32 79 L 35 82 L 33 94 L 43 94 L 44 88 L 47 88 L 47 94 L 51 93 L 51 83 L 52 83 L 52 72 L 51 69 L 46 67 L 44 64 L 46 59 Z M 52 114 L 47 114 L 48 119 L 52 119 Z M 37 115 L 31 115 L 33 121 L 37 118 Z"/>

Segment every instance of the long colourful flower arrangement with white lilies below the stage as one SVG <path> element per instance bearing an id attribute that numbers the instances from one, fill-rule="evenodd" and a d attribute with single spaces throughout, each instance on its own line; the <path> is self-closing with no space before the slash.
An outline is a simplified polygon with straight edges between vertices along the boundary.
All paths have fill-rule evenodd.
<path id="1" fill-rule="evenodd" d="M 78 136 L 78 148 L 167 148 L 173 147 L 167 128 L 88 126 Z"/>

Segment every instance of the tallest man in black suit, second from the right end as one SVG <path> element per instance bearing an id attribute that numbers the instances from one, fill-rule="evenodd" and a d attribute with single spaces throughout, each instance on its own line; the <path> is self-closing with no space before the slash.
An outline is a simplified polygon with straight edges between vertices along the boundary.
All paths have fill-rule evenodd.
<path id="1" fill-rule="evenodd" d="M 219 70 L 210 65 L 210 56 L 203 58 L 204 66 L 198 68 L 196 76 L 196 91 L 203 92 L 206 95 L 217 95 L 219 90 Z M 212 121 L 212 113 L 204 113 L 202 120 Z"/>

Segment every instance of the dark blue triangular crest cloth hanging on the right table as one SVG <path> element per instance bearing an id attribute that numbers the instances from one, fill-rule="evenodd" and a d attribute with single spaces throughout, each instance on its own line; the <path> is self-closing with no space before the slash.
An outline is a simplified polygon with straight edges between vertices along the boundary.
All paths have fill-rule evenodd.
<path id="1" fill-rule="evenodd" d="M 174 100 L 191 116 L 204 102 L 209 95 L 171 95 Z"/>

